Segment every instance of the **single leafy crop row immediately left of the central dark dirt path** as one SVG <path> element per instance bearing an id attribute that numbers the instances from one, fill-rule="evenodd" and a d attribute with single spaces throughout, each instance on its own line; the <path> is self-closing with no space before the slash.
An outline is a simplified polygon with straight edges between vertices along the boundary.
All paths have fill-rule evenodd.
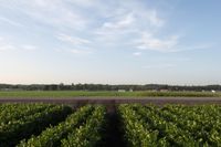
<path id="1" fill-rule="evenodd" d="M 97 106 L 86 120 L 86 124 L 69 134 L 67 138 L 62 140 L 62 147 L 95 147 L 102 140 L 102 130 L 106 124 L 106 109 L 104 106 Z"/>

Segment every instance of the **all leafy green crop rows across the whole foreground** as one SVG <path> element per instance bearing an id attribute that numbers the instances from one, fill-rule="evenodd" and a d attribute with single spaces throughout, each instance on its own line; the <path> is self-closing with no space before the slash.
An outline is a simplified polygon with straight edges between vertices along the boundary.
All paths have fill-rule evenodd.
<path id="1" fill-rule="evenodd" d="M 0 147 L 219 147 L 220 113 L 220 105 L 124 104 L 108 117 L 103 105 L 0 104 Z"/>

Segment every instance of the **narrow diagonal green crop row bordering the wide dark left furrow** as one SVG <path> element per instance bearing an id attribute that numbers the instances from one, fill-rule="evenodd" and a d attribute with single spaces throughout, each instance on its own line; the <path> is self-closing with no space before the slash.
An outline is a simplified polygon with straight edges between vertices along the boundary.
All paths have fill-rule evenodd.
<path id="1" fill-rule="evenodd" d="M 52 147 L 60 146 L 61 139 L 66 137 L 74 128 L 80 127 L 86 122 L 88 115 L 92 114 L 94 107 L 92 105 L 80 108 L 76 113 L 70 115 L 65 122 L 57 126 L 49 127 L 39 136 L 32 136 L 28 141 L 22 140 L 19 147 Z"/>

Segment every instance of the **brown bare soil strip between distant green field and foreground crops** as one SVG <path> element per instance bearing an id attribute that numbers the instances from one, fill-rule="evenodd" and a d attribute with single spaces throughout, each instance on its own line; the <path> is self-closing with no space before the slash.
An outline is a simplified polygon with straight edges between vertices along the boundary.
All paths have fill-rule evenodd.
<path id="1" fill-rule="evenodd" d="M 221 104 L 221 97 L 64 97 L 64 98 L 46 98 L 46 97 L 7 97 L 0 98 L 0 103 L 53 103 L 53 104 Z"/>

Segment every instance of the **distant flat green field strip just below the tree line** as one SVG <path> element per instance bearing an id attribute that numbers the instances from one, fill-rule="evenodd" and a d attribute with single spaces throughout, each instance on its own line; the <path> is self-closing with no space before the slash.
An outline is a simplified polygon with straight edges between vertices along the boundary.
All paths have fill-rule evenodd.
<path id="1" fill-rule="evenodd" d="M 109 92 L 109 91 L 10 91 L 0 92 L 0 97 L 221 97 L 221 93 L 211 92 L 152 92 L 152 91 L 138 91 L 138 92 Z"/>

